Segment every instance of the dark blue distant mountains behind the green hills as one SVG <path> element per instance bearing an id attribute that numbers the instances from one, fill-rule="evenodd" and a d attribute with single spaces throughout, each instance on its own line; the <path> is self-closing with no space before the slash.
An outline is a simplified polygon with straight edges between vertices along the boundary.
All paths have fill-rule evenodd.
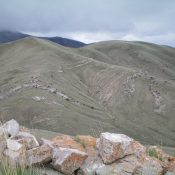
<path id="1" fill-rule="evenodd" d="M 31 37 L 31 35 L 27 35 L 19 32 L 0 31 L 0 43 L 16 41 L 18 39 L 26 38 L 29 36 Z M 46 39 L 54 43 L 57 43 L 66 47 L 72 47 L 72 48 L 83 47 L 86 45 L 80 41 L 75 41 L 75 40 L 62 38 L 62 37 L 39 37 L 39 38 Z"/>

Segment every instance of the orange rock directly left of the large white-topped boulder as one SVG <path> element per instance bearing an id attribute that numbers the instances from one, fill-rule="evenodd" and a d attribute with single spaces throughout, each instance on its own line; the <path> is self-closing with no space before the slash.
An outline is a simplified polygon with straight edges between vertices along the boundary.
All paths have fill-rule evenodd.
<path id="1" fill-rule="evenodd" d="M 89 135 L 77 135 L 76 141 L 83 145 L 88 156 L 95 156 L 97 138 Z"/>

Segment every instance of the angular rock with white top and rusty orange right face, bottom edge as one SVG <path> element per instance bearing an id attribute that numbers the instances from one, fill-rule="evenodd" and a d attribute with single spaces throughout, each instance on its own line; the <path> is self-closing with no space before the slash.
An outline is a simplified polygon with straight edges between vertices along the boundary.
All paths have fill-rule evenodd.
<path id="1" fill-rule="evenodd" d="M 52 165 L 66 175 L 72 175 L 87 158 L 87 154 L 70 148 L 55 148 L 52 153 Z"/>

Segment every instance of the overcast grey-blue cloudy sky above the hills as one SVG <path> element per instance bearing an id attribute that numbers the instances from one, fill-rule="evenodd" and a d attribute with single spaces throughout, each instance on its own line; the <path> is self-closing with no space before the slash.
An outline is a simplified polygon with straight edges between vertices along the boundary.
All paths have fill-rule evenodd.
<path id="1" fill-rule="evenodd" d="M 0 0 L 0 30 L 175 46 L 175 0 Z"/>

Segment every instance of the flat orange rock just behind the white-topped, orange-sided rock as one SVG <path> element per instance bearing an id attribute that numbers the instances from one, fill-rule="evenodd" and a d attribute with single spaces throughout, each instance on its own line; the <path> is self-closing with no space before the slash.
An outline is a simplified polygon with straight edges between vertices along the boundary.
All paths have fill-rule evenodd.
<path id="1" fill-rule="evenodd" d="M 83 145 L 76 142 L 72 137 L 68 135 L 56 136 L 51 141 L 54 147 L 72 148 L 85 152 Z"/>

